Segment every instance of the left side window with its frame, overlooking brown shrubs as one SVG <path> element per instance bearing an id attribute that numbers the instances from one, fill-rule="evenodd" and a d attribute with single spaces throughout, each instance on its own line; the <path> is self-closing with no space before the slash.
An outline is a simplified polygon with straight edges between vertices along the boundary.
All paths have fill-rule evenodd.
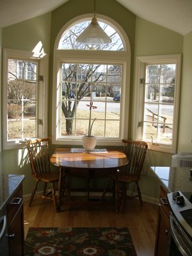
<path id="1" fill-rule="evenodd" d="M 18 147 L 28 138 L 45 134 L 42 63 L 19 53 L 20 57 L 15 58 L 8 49 L 4 50 L 4 149 Z"/>

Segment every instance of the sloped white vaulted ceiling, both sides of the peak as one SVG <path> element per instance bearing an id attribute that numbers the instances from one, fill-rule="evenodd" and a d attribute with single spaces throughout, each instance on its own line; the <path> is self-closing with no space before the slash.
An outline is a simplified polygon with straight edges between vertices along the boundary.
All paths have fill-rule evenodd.
<path id="1" fill-rule="evenodd" d="M 51 12 L 67 1 L 0 0 L 0 28 Z M 116 1 L 137 16 L 172 29 L 182 35 L 192 31 L 192 0 Z"/>

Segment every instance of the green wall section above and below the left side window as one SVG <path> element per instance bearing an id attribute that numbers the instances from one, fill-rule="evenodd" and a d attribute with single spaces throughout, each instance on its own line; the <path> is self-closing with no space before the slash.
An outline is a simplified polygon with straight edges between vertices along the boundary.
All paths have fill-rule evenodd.
<path id="1" fill-rule="evenodd" d="M 49 54 L 51 33 L 51 13 L 2 29 L 2 47 L 22 51 L 33 51 L 42 42 L 44 52 Z M 0 152 L 0 173 L 24 174 L 24 194 L 31 193 L 34 182 L 26 150 L 4 150 Z"/>

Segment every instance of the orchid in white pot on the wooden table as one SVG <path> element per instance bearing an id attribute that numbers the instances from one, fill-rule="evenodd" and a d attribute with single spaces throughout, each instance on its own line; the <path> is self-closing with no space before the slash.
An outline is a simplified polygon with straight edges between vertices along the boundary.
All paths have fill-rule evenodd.
<path id="1" fill-rule="evenodd" d="M 92 127 L 93 123 L 95 122 L 96 118 L 93 119 L 92 122 L 92 109 L 96 109 L 96 106 L 93 106 L 93 102 L 91 101 L 90 104 L 86 104 L 90 108 L 90 118 L 89 118 L 89 125 L 88 125 L 88 135 L 83 136 L 82 142 L 83 142 L 83 147 L 84 150 L 86 151 L 92 151 L 97 143 L 97 138 L 95 136 L 92 136 Z"/>

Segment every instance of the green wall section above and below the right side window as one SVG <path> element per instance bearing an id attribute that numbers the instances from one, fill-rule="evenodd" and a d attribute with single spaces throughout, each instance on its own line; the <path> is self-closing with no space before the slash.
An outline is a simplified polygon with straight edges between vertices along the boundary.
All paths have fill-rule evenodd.
<path id="1" fill-rule="evenodd" d="M 136 61 L 138 56 L 182 53 L 183 36 L 170 29 L 137 17 L 135 42 L 134 60 Z M 134 106 L 134 97 L 132 97 L 131 104 Z M 132 108 L 133 115 L 134 109 Z M 171 163 L 172 154 L 148 150 L 140 180 L 142 194 L 152 198 L 159 197 L 159 180 L 150 171 L 150 166 L 170 166 Z"/>

